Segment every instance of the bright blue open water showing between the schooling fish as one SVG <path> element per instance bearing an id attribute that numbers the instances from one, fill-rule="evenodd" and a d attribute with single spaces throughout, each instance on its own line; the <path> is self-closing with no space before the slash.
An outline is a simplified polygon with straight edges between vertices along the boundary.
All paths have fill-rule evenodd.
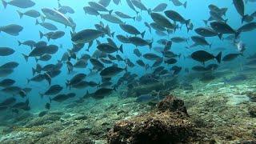
<path id="1" fill-rule="evenodd" d="M 57 8 L 58 7 L 58 2 L 57 0 L 51 0 L 51 1 L 43 1 L 43 0 L 34 0 L 36 2 L 36 5 L 32 8 L 26 9 L 34 9 L 38 10 L 41 13 L 41 9 L 44 7 L 47 8 Z M 105 20 L 101 19 L 99 16 L 95 17 L 92 15 L 86 15 L 84 13 L 84 10 L 82 9 L 84 6 L 88 5 L 87 2 L 90 1 L 80 1 L 80 0 L 61 0 L 61 3 L 63 6 L 70 6 L 74 9 L 75 13 L 74 14 L 67 14 L 71 18 L 74 19 L 74 22 L 76 23 L 76 32 L 84 29 L 94 29 L 94 24 L 99 23 L 102 21 L 105 25 L 108 24 L 110 26 L 110 30 L 115 32 L 115 35 L 117 34 L 123 34 L 123 35 L 129 35 L 126 34 L 117 24 L 112 24 L 110 22 L 106 22 Z M 166 10 L 175 10 L 178 11 L 179 14 L 181 14 L 184 18 L 191 19 L 191 22 L 194 24 L 194 28 L 198 28 L 200 26 L 205 26 L 205 24 L 202 22 L 203 19 L 209 18 L 209 9 L 208 5 L 214 4 L 218 7 L 227 7 L 227 13 L 226 13 L 226 18 L 228 18 L 228 24 L 234 29 L 238 29 L 238 27 L 242 26 L 241 25 L 241 16 L 238 14 L 238 12 L 235 10 L 234 5 L 232 4 L 231 0 L 206 0 L 206 1 L 189 1 L 187 4 L 187 8 L 185 9 L 183 6 L 174 6 L 170 1 L 166 0 L 159 0 L 159 1 L 146 1 L 142 0 L 142 2 L 145 4 L 146 7 L 148 8 L 154 8 L 154 6 L 157 6 L 161 2 L 166 2 L 168 3 L 168 7 Z M 114 5 L 113 2 L 110 3 L 110 6 L 107 7 L 108 10 L 117 10 L 117 11 L 122 11 L 125 14 L 129 14 L 130 16 L 136 16 L 135 12 L 133 10 L 130 10 L 130 7 L 126 5 L 126 1 L 122 0 L 122 4 L 119 6 Z M 256 3 L 254 2 L 249 2 L 246 4 L 246 10 L 245 14 L 252 14 L 256 9 L 255 9 Z M 40 39 L 39 37 L 39 30 L 42 31 L 42 33 L 49 32 L 49 30 L 46 30 L 42 28 L 42 26 L 35 26 L 35 18 L 30 18 L 27 17 L 26 15 L 23 16 L 23 18 L 19 18 L 18 13 L 16 10 L 20 10 L 22 12 L 25 12 L 26 10 L 22 10 L 18 7 L 15 6 L 10 6 L 8 5 L 6 9 L 1 5 L 0 6 L 0 26 L 6 26 L 9 24 L 18 24 L 20 26 L 23 26 L 24 29 L 18 36 L 10 36 L 9 34 L 5 33 L 0 33 L 0 46 L 8 46 L 10 48 L 13 48 L 16 52 L 8 57 L 0 57 L 0 65 L 6 63 L 6 62 L 18 62 L 19 66 L 14 70 L 13 74 L 10 74 L 8 78 L 12 78 L 16 80 L 16 83 L 14 84 L 15 86 L 21 86 L 21 87 L 31 87 L 33 90 L 30 92 L 30 94 L 27 95 L 27 98 L 30 99 L 30 106 L 31 106 L 31 111 L 40 111 L 44 110 L 44 106 L 46 102 L 49 102 L 49 98 L 44 97 L 40 98 L 38 93 L 42 93 L 46 91 L 49 86 L 46 81 L 43 82 L 30 82 L 29 84 L 26 83 L 26 78 L 32 78 L 32 67 L 36 66 L 36 62 L 34 61 L 34 58 L 29 58 L 29 61 L 26 62 L 25 59 L 22 57 L 22 54 L 29 54 L 30 53 L 30 48 L 28 46 L 18 46 L 18 40 L 21 42 L 24 42 L 26 40 L 34 40 L 35 42 L 38 42 L 40 40 L 47 41 L 47 39 L 44 37 Z M 186 33 L 186 26 L 182 26 L 182 30 L 177 30 L 174 34 L 170 34 L 168 37 L 159 37 L 157 34 L 154 33 L 154 30 L 152 29 L 152 34 L 150 34 L 148 28 L 144 25 L 144 22 L 153 22 L 152 18 L 150 18 L 149 14 L 147 14 L 146 11 L 142 11 L 141 13 L 142 16 L 142 22 L 134 22 L 132 19 L 123 19 L 124 22 L 127 24 L 135 26 L 138 30 L 144 31 L 146 30 L 146 35 L 145 39 L 154 39 L 154 46 L 158 46 L 157 40 L 160 38 L 172 38 L 174 36 L 180 36 L 180 37 L 185 37 L 189 38 L 190 36 L 196 35 L 194 30 L 191 30 L 188 34 Z M 163 14 L 163 13 L 162 13 Z M 41 20 L 40 20 L 41 22 Z M 60 58 L 62 58 L 62 54 L 66 52 L 66 50 L 72 48 L 72 41 L 70 40 L 70 27 L 65 28 L 62 24 L 59 24 L 58 22 L 52 22 L 50 20 L 46 20 L 46 22 L 51 22 L 55 26 L 58 26 L 58 30 L 65 31 L 65 36 L 62 38 L 59 38 L 57 40 L 50 40 L 48 44 L 54 44 L 59 46 L 62 44 L 63 48 L 59 48 L 58 53 L 53 55 L 53 58 L 49 62 L 38 62 L 41 66 L 46 66 L 46 64 L 50 63 L 57 63 Z M 255 22 L 255 21 L 254 21 Z M 242 63 L 246 56 L 249 56 L 250 54 L 254 54 L 255 50 L 255 30 L 242 33 L 240 40 L 246 44 L 246 51 L 244 53 L 245 57 L 243 58 L 237 58 L 236 60 L 232 62 L 222 62 L 222 66 L 234 66 L 238 67 L 240 66 L 240 63 Z M 226 35 L 224 36 L 226 37 Z M 101 42 L 106 42 L 106 38 L 98 38 L 99 41 Z M 122 43 L 118 42 L 117 38 L 113 38 L 114 42 L 116 42 L 117 46 L 120 46 Z M 212 37 L 212 38 L 206 38 L 206 40 L 210 43 L 213 43 L 212 48 L 214 47 L 226 47 L 230 49 L 230 51 L 226 51 L 226 53 L 223 53 L 222 55 L 235 52 L 237 51 L 236 46 L 231 44 L 229 41 L 220 41 L 218 37 Z M 177 44 L 173 43 L 173 46 L 171 50 L 175 54 L 183 54 L 185 57 L 188 57 L 193 51 L 196 50 L 207 50 L 210 51 L 209 47 L 202 47 L 202 46 L 197 46 L 194 47 L 190 50 L 187 50 L 185 47 L 190 46 L 192 44 L 192 41 L 189 41 L 189 44 L 187 45 L 186 42 Z M 93 54 L 94 50 L 96 50 L 96 42 L 94 42 L 94 45 L 90 48 L 89 52 L 86 52 L 86 46 L 78 52 L 78 56 L 81 54 Z M 133 54 L 134 50 L 133 45 L 131 44 L 123 44 L 123 49 L 124 53 L 121 54 L 118 52 L 118 54 L 121 54 L 123 58 L 130 58 L 132 62 L 136 62 L 138 58 Z M 150 52 L 150 49 L 148 46 L 142 46 L 138 48 L 142 54 L 146 54 L 147 52 Z M 154 52 L 153 50 L 151 52 Z M 156 52 L 154 52 L 156 53 Z M 218 52 L 214 53 L 217 54 Z M 158 53 L 156 53 L 158 54 Z M 160 55 L 160 54 L 158 54 Z M 162 55 L 160 55 L 162 56 Z M 147 61 L 143 59 L 144 62 L 152 65 L 153 62 Z M 74 63 L 74 61 L 73 61 Z M 215 61 L 210 61 L 206 62 L 207 64 L 209 63 L 215 63 Z M 186 58 L 183 59 L 181 58 L 178 60 L 178 63 L 176 66 L 182 66 L 182 68 L 191 68 L 192 66 L 196 65 L 201 65 L 200 62 L 196 62 L 192 60 L 191 58 Z M 120 62 L 118 63 L 119 67 L 125 67 L 125 63 Z M 166 66 L 167 70 L 170 70 L 170 66 L 167 65 L 162 65 Z M 82 72 L 85 74 L 89 74 L 91 68 L 91 64 L 89 62 L 89 65 L 86 67 L 86 69 L 74 69 L 77 73 Z M 145 70 L 141 66 L 135 66 L 134 68 L 129 68 L 128 71 L 138 74 L 139 76 L 142 76 L 144 74 L 149 74 L 152 72 L 152 70 Z M 123 73 L 122 73 L 123 74 Z M 114 78 L 117 80 L 122 74 L 119 74 L 117 78 Z M 181 76 L 186 75 L 184 72 L 184 69 L 182 70 L 182 73 L 180 74 Z M 66 94 L 70 91 L 74 92 L 77 94 L 76 98 L 82 97 L 85 93 L 86 90 L 89 90 L 90 93 L 93 93 L 97 88 L 86 88 L 85 90 L 68 90 L 65 88 L 65 82 L 67 79 L 70 79 L 74 76 L 74 74 L 68 74 L 67 69 L 66 69 L 66 64 L 62 66 L 62 73 L 58 75 L 57 78 L 52 79 L 52 85 L 54 84 L 59 84 L 64 87 L 62 90 L 62 94 Z M 3 78 L 0 78 L 2 80 Z M 99 75 L 93 77 L 93 78 L 86 78 L 86 80 L 94 80 L 96 82 L 100 82 L 101 78 Z M 115 82 L 114 82 L 115 83 Z M 0 102 L 2 100 L 9 98 L 11 95 L 10 94 L 4 94 L 0 93 Z M 26 98 L 20 98 L 17 96 L 19 101 L 24 102 Z M 52 103 L 52 106 L 58 106 L 62 105 L 62 103 Z"/>

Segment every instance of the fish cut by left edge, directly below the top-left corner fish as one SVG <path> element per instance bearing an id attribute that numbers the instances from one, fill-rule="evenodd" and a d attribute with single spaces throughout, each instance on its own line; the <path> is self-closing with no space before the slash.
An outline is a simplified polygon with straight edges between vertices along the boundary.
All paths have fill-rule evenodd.
<path id="1" fill-rule="evenodd" d="M 0 32 L 3 31 L 6 34 L 10 34 L 13 36 L 18 36 L 18 34 L 23 30 L 22 26 L 16 24 L 10 24 L 7 26 L 0 26 Z"/>

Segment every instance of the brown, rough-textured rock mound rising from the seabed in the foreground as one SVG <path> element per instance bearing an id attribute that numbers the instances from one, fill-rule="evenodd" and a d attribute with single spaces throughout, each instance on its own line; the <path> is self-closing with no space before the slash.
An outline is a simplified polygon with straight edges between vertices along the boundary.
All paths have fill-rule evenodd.
<path id="1" fill-rule="evenodd" d="M 188 119 L 184 102 L 173 96 L 158 103 L 157 110 L 117 122 L 108 134 L 109 143 L 187 142 L 195 127 Z"/>

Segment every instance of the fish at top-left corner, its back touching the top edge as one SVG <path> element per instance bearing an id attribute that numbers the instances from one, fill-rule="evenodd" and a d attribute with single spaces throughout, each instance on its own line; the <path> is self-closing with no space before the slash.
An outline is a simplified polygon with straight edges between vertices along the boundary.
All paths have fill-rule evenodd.
<path id="1" fill-rule="evenodd" d="M 35 5 L 33 1 L 30 0 L 12 0 L 10 2 L 6 2 L 5 0 L 2 0 L 2 5 L 6 8 L 7 5 L 16 6 L 19 8 L 29 8 Z"/>

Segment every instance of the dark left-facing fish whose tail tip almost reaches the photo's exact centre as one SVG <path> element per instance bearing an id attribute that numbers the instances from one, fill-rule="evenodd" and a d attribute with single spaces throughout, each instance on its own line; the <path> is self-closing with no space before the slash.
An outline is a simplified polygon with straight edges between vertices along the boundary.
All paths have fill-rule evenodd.
<path id="1" fill-rule="evenodd" d="M 126 70 L 126 68 L 122 69 L 117 66 L 110 66 L 110 67 L 106 67 L 105 69 L 103 69 L 100 72 L 100 75 L 102 76 L 102 78 L 112 78 L 115 75 L 121 73 L 123 70 Z"/>

